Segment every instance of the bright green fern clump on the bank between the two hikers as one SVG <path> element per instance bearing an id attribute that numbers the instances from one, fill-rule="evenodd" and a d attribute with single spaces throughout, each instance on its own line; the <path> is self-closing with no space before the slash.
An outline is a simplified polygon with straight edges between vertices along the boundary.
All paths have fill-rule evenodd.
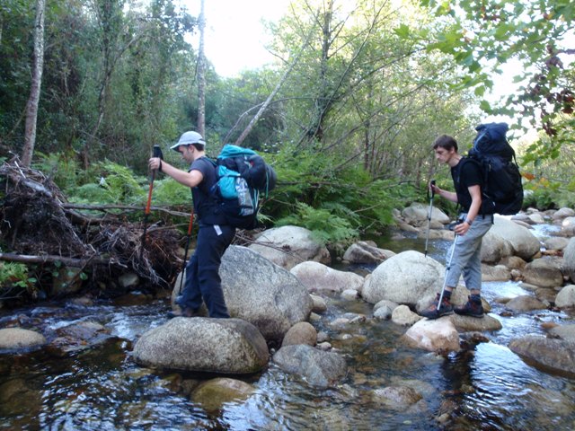
<path id="1" fill-rule="evenodd" d="M 333 169 L 341 163 L 339 154 L 293 154 L 266 154 L 279 182 L 263 209 L 276 225 L 305 227 L 321 242 L 349 242 L 359 233 L 380 231 L 394 223 L 394 208 L 417 198 L 411 184 L 374 180 L 359 163 Z"/>

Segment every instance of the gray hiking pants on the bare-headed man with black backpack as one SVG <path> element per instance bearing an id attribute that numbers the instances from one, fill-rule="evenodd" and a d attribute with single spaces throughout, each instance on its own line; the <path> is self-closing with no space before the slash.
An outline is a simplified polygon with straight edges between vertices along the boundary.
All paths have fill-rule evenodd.
<path id="1" fill-rule="evenodd" d="M 466 214 L 459 216 L 459 220 L 464 219 Z M 473 220 L 473 224 L 462 236 L 456 236 L 456 241 L 452 245 L 455 247 L 451 267 L 449 267 L 449 257 L 452 247 L 447 251 L 446 286 L 456 287 L 459 277 L 464 275 L 465 286 L 469 289 L 482 289 L 482 239 L 485 233 L 490 230 L 493 224 L 493 216 L 478 215 Z"/>

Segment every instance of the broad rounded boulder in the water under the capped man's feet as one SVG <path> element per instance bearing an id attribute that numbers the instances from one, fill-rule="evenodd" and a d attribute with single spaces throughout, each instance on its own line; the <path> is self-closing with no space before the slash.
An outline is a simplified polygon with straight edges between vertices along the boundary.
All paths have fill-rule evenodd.
<path id="1" fill-rule="evenodd" d="M 240 319 L 177 317 L 148 330 L 133 351 L 137 364 L 159 369 L 252 374 L 268 364 L 266 340 Z"/>

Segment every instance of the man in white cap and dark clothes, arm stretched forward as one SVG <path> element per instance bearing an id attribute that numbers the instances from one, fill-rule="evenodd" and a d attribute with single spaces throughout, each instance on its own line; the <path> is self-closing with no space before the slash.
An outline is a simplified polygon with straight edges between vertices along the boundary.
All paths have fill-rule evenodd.
<path id="1" fill-rule="evenodd" d="M 178 315 L 198 315 L 203 299 L 209 317 L 230 317 L 218 270 L 224 252 L 234 239 L 235 228 L 226 223 L 226 217 L 217 211 L 216 204 L 209 197 L 209 190 L 217 180 L 216 167 L 206 157 L 206 141 L 198 132 L 184 133 L 171 148 L 180 153 L 184 161 L 191 163 L 187 172 L 174 168 L 158 157 L 149 160 L 149 167 L 191 188 L 194 213 L 199 219 L 196 251 L 186 265 L 185 286 L 177 300 L 181 307 L 181 314 Z M 171 316 L 174 314 L 171 313 Z"/>

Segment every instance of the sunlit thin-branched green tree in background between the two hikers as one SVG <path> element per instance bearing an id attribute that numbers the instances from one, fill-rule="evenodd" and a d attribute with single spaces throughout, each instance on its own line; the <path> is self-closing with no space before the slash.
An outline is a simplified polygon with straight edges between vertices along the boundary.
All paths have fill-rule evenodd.
<path id="1" fill-rule="evenodd" d="M 397 22 L 432 26 L 425 11 L 367 0 L 293 7 L 271 27 L 271 48 L 287 64 L 288 53 L 312 37 L 279 95 L 284 142 L 336 153 L 339 164 L 361 161 L 374 178 L 419 180 L 430 169 L 429 143 L 470 128 L 469 94 L 448 85 L 457 79 L 455 62 L 428 55 L 398 29 Z"/>

